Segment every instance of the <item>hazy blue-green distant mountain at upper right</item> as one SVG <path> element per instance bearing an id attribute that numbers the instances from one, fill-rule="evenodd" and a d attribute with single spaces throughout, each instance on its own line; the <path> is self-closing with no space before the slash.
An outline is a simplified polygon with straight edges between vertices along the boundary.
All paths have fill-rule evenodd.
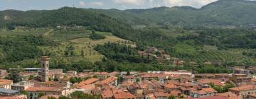
<path id="1" fill-rule="evenodd" d="M 100 12 L 124 20 L 127 23 L 137 24 L 164 23 L 190 27 L 256 27 L 255 9 L 256 1 L 219 0 L 202 8 L 181 6 L 125 11 L 100 10 Z"/>

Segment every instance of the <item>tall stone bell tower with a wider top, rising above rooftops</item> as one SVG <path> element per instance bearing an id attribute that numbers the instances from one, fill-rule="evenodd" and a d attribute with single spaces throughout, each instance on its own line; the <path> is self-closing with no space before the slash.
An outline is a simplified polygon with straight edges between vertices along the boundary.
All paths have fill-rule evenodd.
<path id="1" fill-rule="evenodd" d="M 49 71 L 49 61 L 50 57 L 41 57 L 41 81 L 49 81 L 48 71 Z"/>

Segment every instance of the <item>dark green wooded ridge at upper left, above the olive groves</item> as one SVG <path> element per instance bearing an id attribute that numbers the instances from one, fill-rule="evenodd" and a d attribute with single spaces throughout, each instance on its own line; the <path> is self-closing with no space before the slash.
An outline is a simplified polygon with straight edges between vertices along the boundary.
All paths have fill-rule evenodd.
<path id="1" fill-rule="evenodd" d="M 121 21 L 117 21 L 102 13 L 95 13 L 84 8 L 63 7 L 50 11 L 0 11 L 0 25 L 4 27 L 29 26 L 34 28 L 55 27 L 58 25 L 83 25 L 100 31 L 129 28 Z"/>

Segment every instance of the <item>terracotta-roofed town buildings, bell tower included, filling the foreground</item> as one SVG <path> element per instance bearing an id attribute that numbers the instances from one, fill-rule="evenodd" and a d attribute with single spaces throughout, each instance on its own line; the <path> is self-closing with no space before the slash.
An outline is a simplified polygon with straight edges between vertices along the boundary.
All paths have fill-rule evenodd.
<path id="1" fill-rule="evenodd" d="M 256 79 L 253 69 L 233 68 L 233 74 L 192 74 L 191 71 L 114 71 L 82 72 L 48 69 L 50 57 L 41 57 L 41 68 L 25 68 L 23 81 L 13 83 L 0 79 L 1 99 L 47 99 L 68 96 L 75 91 L 100 95 L 102 99 L 254 99 Z M 256 70 L 256 69 L 255 69 Z M 2 77 L 6 70 L 0 70 Z M 30 76 L 34 76 L 31 79 Z M 70 78 L 83 80 L 70 83 Z M 50 79 L 58 79 L 51 81 Z M 228 92 L 218 93 L 211 85 L 224 87 L 233 84 Z M 22 95 L 26 91 L 27 95 Z"/>

